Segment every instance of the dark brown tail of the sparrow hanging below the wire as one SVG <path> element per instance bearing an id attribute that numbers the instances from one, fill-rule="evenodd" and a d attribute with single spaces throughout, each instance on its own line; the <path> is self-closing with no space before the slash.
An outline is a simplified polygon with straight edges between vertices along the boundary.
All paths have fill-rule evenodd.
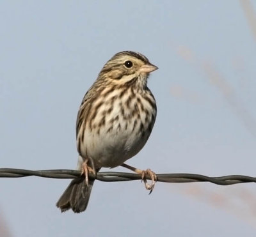
<path id="1" fill-rule="evenodd" d="M 61 195 L 56 206 L 60 208 L 61 212 L 67 211 L 70 208 L 79 213 L 86 210 L 94 180 L 89 180 L 88 184 L 85 183 L 84 176 L 75 178 L 68 185 L 65 192 Z"/>

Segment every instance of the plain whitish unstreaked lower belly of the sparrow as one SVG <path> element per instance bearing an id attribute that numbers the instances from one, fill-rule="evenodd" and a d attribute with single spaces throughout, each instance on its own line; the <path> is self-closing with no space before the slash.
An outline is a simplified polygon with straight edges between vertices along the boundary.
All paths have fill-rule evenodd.
<path id="1" fill-rule="evenodd" d="M 96 167 L 116 167 L 123 164 L 143 148 L 149 136 L 142 136 L 140 124 L 132 132 L 133 125 L 133 120 L 128 123 L 127 128 L 125 124 L 116 122 L 111 131 L 108 131 L 108 126 L 104 126 L 99 134 L 86 130 L 81 155 L 92 158 Z"/>

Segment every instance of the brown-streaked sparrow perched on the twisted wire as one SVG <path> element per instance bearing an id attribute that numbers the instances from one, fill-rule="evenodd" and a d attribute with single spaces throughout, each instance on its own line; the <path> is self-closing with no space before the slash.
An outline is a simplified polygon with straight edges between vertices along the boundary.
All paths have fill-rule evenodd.
<path id="1" fill-rule="evenodd" d="M 102 167 L 122 165 L 149 174 L 152 190 L 156 174 L 124 164 L 145 145 L 156 119 L 156 101 L 147 87 L 150 72 L 157 70 L 147 57 L 138 52 L 115 54 L 104 65 L 97 80 L 84 95 L 77 114 L 76 135 L 79 158 L 77 169 L 85 174 L 71 181 L 56 206 L 61 211 L 72 209 L 79 213 L 86 209 L 93 180 L 88 172 Z"/>

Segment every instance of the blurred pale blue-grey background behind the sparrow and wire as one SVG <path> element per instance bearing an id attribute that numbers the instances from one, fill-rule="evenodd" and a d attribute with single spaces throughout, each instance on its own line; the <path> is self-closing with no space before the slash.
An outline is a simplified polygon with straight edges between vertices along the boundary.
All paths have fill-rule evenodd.
<path id="1" fill-rule="evenodd" d="M 0 29 L 0 167 L 74 169 L 84 93 L 134 50 L 159 67 L 158 114 L 127 164 L 256 175 L 255 1 L 1 1 Z M 255 236 L 253 183 L 96 181 L 86 212 L 60 213 L 69 182 L 1 178 L 0 236 Z"/>

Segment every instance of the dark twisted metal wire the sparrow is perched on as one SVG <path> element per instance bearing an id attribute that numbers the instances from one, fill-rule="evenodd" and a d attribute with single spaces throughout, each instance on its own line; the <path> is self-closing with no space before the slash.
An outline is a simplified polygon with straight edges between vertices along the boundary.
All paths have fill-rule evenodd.
<path id="1" fill-rule="evenodd" d="M 56 178 L 56 179 L 72 179 L 81 176 L 80 171 L 70 169 L 50 169 L 31 171 L 28 169 L 12 169 L 0 168 L 0 178 L 20 178 L 28 176 L 38 176 L 43 178 Z M 191 183 L 191 182 L 210 182 L 216 185 L 234 185 L 237 183 L 256 183 L 256 178 L 244 175 L 227 175 L 219 177 L 209 177 L 202 174 L 188 174 L 188 173 L 175 173 L 175 174 L 156 174 L 157 181 L 165 183 Z M 141 174 L 127 173 L 127 172 L 98 172 L 89 174 L 89 177 L 95 180 L 104 182 L 115 181 L 131 181 L 141 180 Z M 146 176 L 147 180 L 151 180 L 150 176 Z"/>

